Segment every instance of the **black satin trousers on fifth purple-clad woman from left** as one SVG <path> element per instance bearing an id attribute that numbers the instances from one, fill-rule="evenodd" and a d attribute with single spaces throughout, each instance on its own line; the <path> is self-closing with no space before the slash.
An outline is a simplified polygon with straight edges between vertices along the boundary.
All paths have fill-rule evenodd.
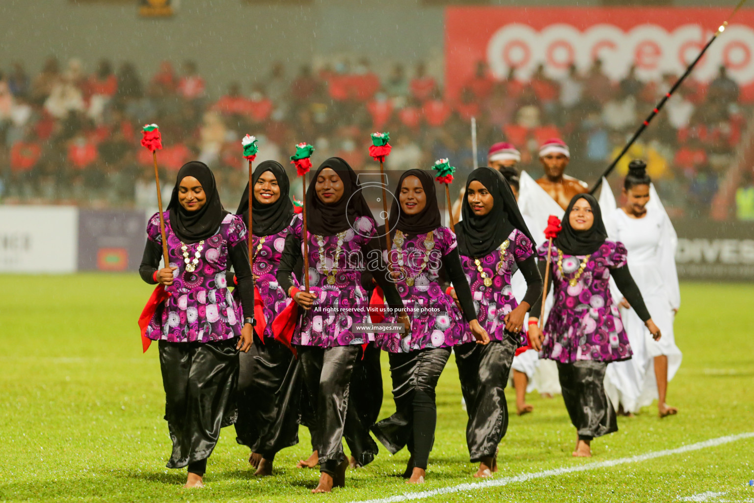
<path id="1" fill-rule="evenodd" d="M 505 386 L 518 345 L 507 337 L 488 345 L 455 346 L 455 364 L 469 416 L 466 444 L 471 462 L 492 458 L 508 428 Z"/>

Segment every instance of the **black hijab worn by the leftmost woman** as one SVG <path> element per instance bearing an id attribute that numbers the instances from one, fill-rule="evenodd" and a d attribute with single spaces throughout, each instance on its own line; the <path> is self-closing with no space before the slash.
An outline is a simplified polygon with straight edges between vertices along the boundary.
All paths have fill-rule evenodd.
<path id="1" fill-rule="evenodd" d="M 178 202 L 178 186 L 186 176 L 198 179 L 201 188 L 204 189 L 204 194 L 207 195 L 207 202 L 200 210 L 186 210 Z M 187 162 L 178 171 L 176 186 L 173 187 L 173 195 L 170 197 L 167 210 L 170 212 L 170 227 L 185 244 L 196 243 L 215 235 L 222 219 L 228 214 L 220 202 L 215 175 L 207 164 L 199 161 Z"/>

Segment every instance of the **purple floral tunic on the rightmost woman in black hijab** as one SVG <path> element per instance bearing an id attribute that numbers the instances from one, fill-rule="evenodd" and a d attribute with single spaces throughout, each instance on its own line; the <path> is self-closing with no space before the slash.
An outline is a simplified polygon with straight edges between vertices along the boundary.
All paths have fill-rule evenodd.
<path id="1" fill-rule="evenodd" d="M 547 243 L 538 250 L 547 259 Z M 561 363 L 577 360 L 602 362 L 627 360 L 631 347 L 623 328 L 618 305 L 610 295 L 610 269 L 626 265 L 626 247 L 605 241 L 592 253 L 584 271 L 578 271 L 584 256 L 563 255 L 559 271 L 558 249 L 553 245 L 550 275 L 553 277 L 553 307 L 544 326 L 541 357 Z M 578 280 L 571 280 L 578 276 Z"/>

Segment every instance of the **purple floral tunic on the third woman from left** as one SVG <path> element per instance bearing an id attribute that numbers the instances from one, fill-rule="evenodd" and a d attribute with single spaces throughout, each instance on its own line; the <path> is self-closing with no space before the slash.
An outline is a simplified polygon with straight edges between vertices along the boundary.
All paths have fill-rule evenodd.
<path id="1" fill-rule="evenodd" d="M 375 235 L 376 225 L 371 217 L 360 216 L 353 227 L 358 232 L 348 228 L 332 236 L 308 233 L 309 291 L 317 295 L 317 300 L 310 311 L 299 308 L 304 314 L 293 332 L 292 344 L 331 348 L 374 340 L 373 333 L 353 333 L 351 328 L 370 321 L 369 299 L 361 287 L 361 271 L 367 260 L 362 249 Z M 300 215 L 293 217 L 291 232 L 303 235 Z M 320 239 L 323 257 L 320 257 Z M 301 253 L 304 253 L 303 242 Z"/>

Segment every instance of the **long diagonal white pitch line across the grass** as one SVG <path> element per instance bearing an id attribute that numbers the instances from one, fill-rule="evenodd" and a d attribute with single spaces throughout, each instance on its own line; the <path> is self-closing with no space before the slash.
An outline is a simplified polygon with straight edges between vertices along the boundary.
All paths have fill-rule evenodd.
<path id="1" fill-rule="evenodd" d="M 537 471 L 531 474 L 520 474 L 515 477 L 503 477 L 501 479 L 484 480 L 483 482 L 472 482 L 458 484 L 458 486 L 441 487 L 431 491 L 406 492 L 401 495 L 389 496 L 388 498 L 367 499 L 363 501 L 352 501 L 352 503 L 400 503 L 400 501 L 410 501 L 413 499 L 431 498 L 432 496 L 449 494 L 451 492 L 474 491 L 477 489 L 487 489 L 489 487 L 507 486 L 514 482 L 526 482 L 532 479 L 541 479 L 545 477 L 556 477 L 557 475 L 573 474 L 579 471 L 596 470 L 597 468 L 608 468 L 616 465 L 627 465 L 629 463 L 639 463 L 649 459 L 662 458 L 667 455 L 682 454 L 683 452 L 706 449 L 708 447 L 722 446 L 725 443 L 735 442 L 745 438 L 754 437 L 754 431 L 741 433 L 737 435 L 728 435 L 726 437 L 712 438 L 703 442 L 690 443 L 688 446 L 676 447 L 676 449 L 665 449 L 655 452 L 647 452 L 631 456 L 630 458 L 618 458 L 596 463 L 587 463 L 587 465 L 571 466 L 567 468 L 554 468 L 553 470 Z"/>

